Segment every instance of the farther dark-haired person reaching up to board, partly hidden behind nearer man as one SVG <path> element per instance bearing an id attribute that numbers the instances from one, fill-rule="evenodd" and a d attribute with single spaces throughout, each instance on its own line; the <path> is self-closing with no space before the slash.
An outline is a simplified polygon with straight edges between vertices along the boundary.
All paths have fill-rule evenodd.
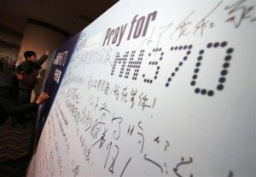
<path id="1" fill-rule="evenodd" d="M 31 60 L 38 64 L 38 66 L 42 66 L 44 61 L 48 58 L 49 50 L 45 50 L 45 54 L 38 59 L 37 54 L 34 51 L 26 51 L 24 53 L 25 60 Z M 35 88 L 37 82 L 35 82 L 30 87 L 21 86 L 19 90 L 19 104 L 27 104 L 31 102 L 32 89 Z M 22 123 L 26 122 L 26 116 L 23 117 L 12 117 L 12 125 L 15 128 L 18 128 L 22 125 Z"/>

